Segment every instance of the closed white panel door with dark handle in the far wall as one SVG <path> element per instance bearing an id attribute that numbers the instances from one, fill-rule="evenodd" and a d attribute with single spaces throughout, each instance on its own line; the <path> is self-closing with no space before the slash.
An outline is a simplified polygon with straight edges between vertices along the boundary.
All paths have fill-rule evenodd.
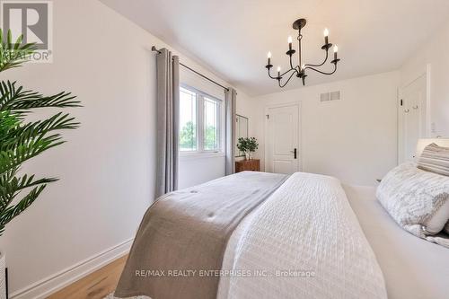
<path id="1" fill-rule="evenodd" d="M 299 164 L 299 105 L 267 109 L 265 171 L 291 174 Z"/>

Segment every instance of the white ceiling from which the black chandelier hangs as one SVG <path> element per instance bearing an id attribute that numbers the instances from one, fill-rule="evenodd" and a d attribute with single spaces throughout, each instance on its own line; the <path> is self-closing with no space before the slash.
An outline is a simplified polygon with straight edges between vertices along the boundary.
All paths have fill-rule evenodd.
<path id="1" fill-rule="evenodd" d="M 308 22 L 305 63 L 321 62 L 325 27 L 341 58 L 335 75 L 310 72 L 307 85 L 398 69 L 449 20 L 449 0 L 101 2 L 252 96 L 280 90 L 266 74 L 267 52 L 273 53 L 275 66 L 286 69 L 286 38 L 295 39 L 292 23 L 298 18 Z M 292 81 L 286 88 L 302 85 L 297 78 Z"/>

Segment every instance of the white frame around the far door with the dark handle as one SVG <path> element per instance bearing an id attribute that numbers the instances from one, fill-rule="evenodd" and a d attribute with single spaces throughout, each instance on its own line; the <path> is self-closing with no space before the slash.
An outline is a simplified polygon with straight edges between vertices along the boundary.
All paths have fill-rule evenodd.
<path id="1" fill-rule="evenodd" d="M 269 119 L 267 119 L 267 115 L 269 115 L 269 109 L 272 108 L 282 108 L 282 107 L 287 107 L 287 106 L 297 106 L 298 107 L 298 136 L 297 136 L 297 140 L 298 140 L 298 150 L 297 150 L 297 160 L 298 160 L 298 171 L 303 171 L 303 140 L 302 140 L 302 130 L 303 130 L 303 124 L 302 124 L 302 118 L 301 118 L 301 111 L 302 111 L 302 101 L 287 101 L 287 102 L 282 102 L 282 103 L 276 103 L 276 104 L 269 104 L 265 106 L 264 112 L 265 114 L 263 115 L 264 118 L 264 126 L 263 126 L 263 130 L 264 130 L 264 171 L 267 171 L 268 169 L 268 165 L 269 165 L 269 159 L 268 159 L 268 153 L 269 151 L 268 146 L 269 143 L 267 142 L 267 140 L 269 140 Z"/>

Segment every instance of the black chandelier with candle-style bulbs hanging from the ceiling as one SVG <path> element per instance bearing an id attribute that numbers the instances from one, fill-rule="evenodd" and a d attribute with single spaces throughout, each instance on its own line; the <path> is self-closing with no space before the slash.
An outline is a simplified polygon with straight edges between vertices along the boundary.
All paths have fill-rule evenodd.
<path id="1" fill-rule="evenodd" d="M 267 64 L 267 66 L 265 66 L 265 67 L 269 70 L 269 77 L 271 79 L 277 80 L 277 83 L 279 84 L 279 87 L 281 87 L 281 88 L 286 86 L 286 84 L 288 84 L 288 82 L 290 81 L 290 79 L 292 79 L 292 77 L 294 75 L 296 75 L 296 77 L 298 77 L 298 78 L 302 78 L 303 85 L 304 85 L 305 77 L 307 76 L 307 75 L 305 75 L 305 72 L 309 69 L 313 70 L 315 72 L 318 72 L 322 75 L 332 75 L 337 71 L 337 63 L 339 62 L 339 58 L 337 58 L 337 52 L 339 51 L 339 48 L 336 45 L 333 48 L 334 49 L 334 58 L 332 61 L 330 61 L 330 63 L 334 65 L 334 70 L 330 73 L 326 73 L 326 72 L 323 72 L 323 71 L 317 69 L 317 67 L 323 66 L 326 63 L 326 61 L 328 61 L 329 49 L 332 48 L 332 44 L 329 42 L 329 31 L 327 29 L 324 30 L 324 45 L 321 47 L 321 49 L 326 51 L 326 57 L 324 58 L 324 61 L 319 65 L 311 65 L 311 64 L 303 65 L 302 57 L 301 57 L 301 40 L 303 39 L 303 35 L 301 34 L 301 29 L 304 28 L 305 24 L 306 24 L 305 19 L 299 19 L 293 23 L 293 28 L 298 31 L 297 40 L 298 40 L 298 47 L 299 47 L 298 48 L 299 65 L 297 65 L 295 67 L 293 66 L 292 57 L 296 53 L 296 51 L 292 47 L 293 40 L 292 40 L 291 36 L 288 37 L 288 51 L 286 51 L 286 55 L 288 55 L 288 57 L 290 58 L 290 69 L 289 70 L 287 70 L 286 72 L 281 74 L 281 72 L 280 72 L 281 68 L 280 68 L 280 66 L 277 66 L 277 76 L 276 77 L 272 76 L 270 74 L 270 70 L 271 70 L 271 67 L 273 67 L 273 65 L 271 64 L 271 52 L 269 52 L 269 55 L 268 55 L 269 62 Z M 288 75 L 288 79 L 286 80 L 286 82 L 284 84 L 281 84 L 282 78 L 287 75 Z"/>

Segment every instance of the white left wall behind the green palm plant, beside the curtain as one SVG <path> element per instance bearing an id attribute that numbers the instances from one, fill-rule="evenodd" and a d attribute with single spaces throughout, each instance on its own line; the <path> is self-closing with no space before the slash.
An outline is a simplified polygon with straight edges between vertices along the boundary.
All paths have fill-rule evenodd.
<path id="1" fill-rule="evenodd" d="M 154 199 L 155 61 L 150 49 L 164 43 L 98 1 L 53 4 L 53 64 L 29 64 L 1 79 L 45 94 L 73 92 L 84 105 L 71 110 L 82 126 L 65 132 L 68 143 L 26 168 L 61 180 L 50 184 L 0 238 L 10 294 L 16 298 L 31 297 L 23 292 L 33 284 L 33 295 L 39 295 L 98 267 L 106 259 L 99 258 L 102 251 L 114 249 L 103 255 L 110 259 L 126 251 Z M 188 57 L 180 59 L 220 80 Z M 79 263 L 81 268 L 61 272 Z"/>

